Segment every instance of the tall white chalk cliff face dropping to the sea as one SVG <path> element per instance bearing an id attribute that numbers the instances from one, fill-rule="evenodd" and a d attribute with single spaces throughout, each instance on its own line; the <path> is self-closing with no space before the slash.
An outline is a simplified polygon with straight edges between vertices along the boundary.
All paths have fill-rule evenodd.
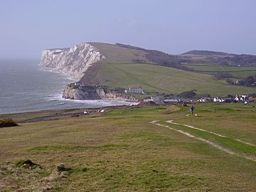
<path id="1" fill-rule="evenodd" d="M 43 50 L 40 66 L 80 79 L 87 68 L 103 59 L 105 56 L 97 48 L 89 43 L 80 43 L 72 48 Z"/>

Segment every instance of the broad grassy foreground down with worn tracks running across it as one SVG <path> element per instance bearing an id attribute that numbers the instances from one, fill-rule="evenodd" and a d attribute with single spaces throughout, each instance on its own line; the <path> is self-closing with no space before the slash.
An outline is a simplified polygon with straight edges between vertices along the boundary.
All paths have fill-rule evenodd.
<path id="1" fill-rule="evenodd" d="M 188 108 L 121 108 L 0 129 L 0 191 L 255 191 L 255 107 L 197 104 L 196 116 Z M 22 159 L 41 167 L 25 169 Z"/>

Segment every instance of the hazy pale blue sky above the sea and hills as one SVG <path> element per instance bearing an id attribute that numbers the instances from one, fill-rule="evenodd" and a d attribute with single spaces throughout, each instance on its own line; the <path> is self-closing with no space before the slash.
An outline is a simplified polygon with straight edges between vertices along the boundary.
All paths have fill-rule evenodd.
<path id="1" fill-rule="evenodd" d="M 88 41 L 256 55 L 255 0 L 0 0 L 0 24 L 0 58 Z"/>

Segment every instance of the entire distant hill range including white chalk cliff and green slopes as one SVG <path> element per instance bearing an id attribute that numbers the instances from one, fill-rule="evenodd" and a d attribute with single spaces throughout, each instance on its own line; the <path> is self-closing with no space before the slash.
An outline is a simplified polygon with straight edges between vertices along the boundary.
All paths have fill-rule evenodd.
<path id="1" fill-rule="evenodd" d="M 197 90 L 198 94 L 213 96 L 255 92 L 255 87 L 234 86 L 215 78 L 218 71 L 232 73 L 232 77 L 239 77 L 237 73 L 254 75 L 254 68 L 233 69 L 230 63 L 256 65 L 256 56 L 208 50 L 170 55 L 121 43 L 96 42 L 43 50 L 41 56 L 41 66 L 46 70 L 67 73 L 85 85 L 142 86 L 149 92 L 173 94 Z"/>

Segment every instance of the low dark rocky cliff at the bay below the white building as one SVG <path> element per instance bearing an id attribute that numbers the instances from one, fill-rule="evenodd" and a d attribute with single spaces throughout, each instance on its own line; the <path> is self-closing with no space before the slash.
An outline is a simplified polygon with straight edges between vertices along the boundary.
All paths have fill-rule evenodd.
<path id="1" fill-rule="evenodd" d="M 111 90 L 109 87 L 74 85 L 73 83 L 65 86 L 63 97 L 70 100 L 137 100 L 131 95 L 125 95 L 117 90 Z"/>

